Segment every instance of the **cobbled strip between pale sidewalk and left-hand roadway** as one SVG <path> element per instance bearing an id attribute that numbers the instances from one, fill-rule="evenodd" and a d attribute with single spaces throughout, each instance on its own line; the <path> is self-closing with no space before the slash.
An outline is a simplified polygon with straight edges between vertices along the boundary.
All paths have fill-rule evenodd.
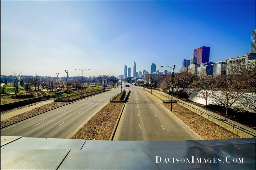
<path id="1" fill-rule="evenodd" d="M 64 103 L 64 102 L 52 102 L 52 103 L 49 103 L 49 104 L 37 107 L 35 109 L 32 109 L 30 111 L 24 112 L 22 114 L 19 114 L 17 116 L 13 116 L 11 118 L 8 118 L 8 119 L 2 121 L 1 122 L 1 127 L 6 126 L 6 125 L 11 124 L 11 123 L 14 123 L 14 122 L 17 122 L 17 121 L 20 121 L 20 120 L 22 120 L 24 118 L 27 118 L 27 117 L 39 114 L 39 113 L 41 113 L 43 111 L 47 111 L 47 110 L 53 109 L 55 107 L 59 107 L 59 106 L 65 105 L 65 104 L 67 104 L 67 103 Z"/>

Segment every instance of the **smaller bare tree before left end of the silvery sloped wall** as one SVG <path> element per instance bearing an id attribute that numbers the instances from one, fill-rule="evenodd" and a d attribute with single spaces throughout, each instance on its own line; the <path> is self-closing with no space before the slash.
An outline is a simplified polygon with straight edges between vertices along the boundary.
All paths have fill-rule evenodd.
<path id="1" fill-rule="evenodd" d="M 208 96 L 214 92 L 216 78 L 211 76 L 207 76 L 205 78 L 197 78 L 192 83 L 192 87 L 194 87 L 196 93 L 199 97 L 205 99 L 205 105 L 208 104 Z"/>

